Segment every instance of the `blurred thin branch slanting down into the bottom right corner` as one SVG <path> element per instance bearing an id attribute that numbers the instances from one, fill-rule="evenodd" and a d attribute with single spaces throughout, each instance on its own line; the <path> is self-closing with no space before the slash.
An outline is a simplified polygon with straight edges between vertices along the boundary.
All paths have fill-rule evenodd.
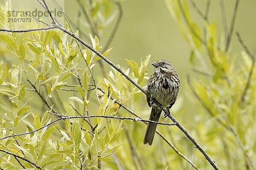
<path id="1" fill-rule="evenodd" d="M 208 91 L 209 96 L 211 97 L 212 101 L 214 102 L 215 107 L 218 109 L 218 112 L 221 114 L 222 118 L 225 120 L 225 122 L 227 123 L 231 133 L 233 133 L 233 135 L 236 138 L 237 143 L 239 144 L 239 147 L 241 148 L 241 150 L 243 151 L 244 155 L 246 156 L 247 160 L 250 163 L 250 166 L 252 167 L 253 170 L 256 170 L 256 168 L 253 165 L 253 161 L 250 159 L 249 154 L 247 153 L 247 150 L 244 148 L 244 145 L 242 144 L 238 133 L 236 132 L 236 130 L 234 129 L 234 127 L 231 125 L 231 123 L 229 122 L 229 120 L 227 119 L 227 116 L 225 116 L 224 112 L 221 110 L 221 108 L 218 106 L 217 101 L 215 100 L 215 98 L 212 96 L 212 93 L 210 91 L 210 89 L 205 86 L 205 88 Z"/>

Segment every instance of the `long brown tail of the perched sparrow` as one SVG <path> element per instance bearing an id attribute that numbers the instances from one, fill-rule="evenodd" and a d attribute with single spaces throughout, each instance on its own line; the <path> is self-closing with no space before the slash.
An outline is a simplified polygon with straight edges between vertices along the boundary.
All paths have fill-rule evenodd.
<path id="1" fill-rule="evenodd" d="M 150 116 L 149 116 L 149 120 L 153 120 L 155 122 L 158 122 L 158 120 L 160 118 L 160 115 L 161 115 L 161 112 L 162 112 L 162 110 L 160 108 L 153 105 L 153 107 L 151 108 L 151 113 L 150 113 Z M 156 129 L 157 129 L 157 124 L 148 122 L 148 126 L 147 126 L 145 136 L 144 136 L 144 140 L 143 140 L 144 144 L 147 144 L 147 143 L 149 145 L 152 144 Z"/>

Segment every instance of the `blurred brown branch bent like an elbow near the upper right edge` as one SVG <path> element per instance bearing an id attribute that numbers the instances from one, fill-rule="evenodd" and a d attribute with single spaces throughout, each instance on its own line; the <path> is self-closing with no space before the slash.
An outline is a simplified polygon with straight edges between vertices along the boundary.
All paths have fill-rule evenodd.
<path id="1" fill-rule="evenodd" d="M 240 42 L 240 44 L 242 45 L 242 47 L 244 48 L 244 50 L 246 51 L 246 53 L 249 55 L 249 57 L 252 59 L 252 65 L 251 65 L 251 68 L 250 68 L 250 73 L 249 73 L 249 76 L 247 78 L 247 82 L 246 82 L 246 85 L 244 87 L 244 91 L 242 93 L 242 96 L 241 96 L 241 102 L 244 102 L 244 97 L 249 89 L 249 86 L 250 86 L 250 82 L 251 82 L 251 79 L 252 79 L 252 76 L 253 76 L 253 68 L 255 66 L 255 56 L 250 52 L 250 50 L 247 48 L 247 46 L 244 44 L 244 41 L 241 39 L 241 36 L 239 34 L 239 32 L 236 32 L 236 35 L 237 35 L 237 38 Z"/>

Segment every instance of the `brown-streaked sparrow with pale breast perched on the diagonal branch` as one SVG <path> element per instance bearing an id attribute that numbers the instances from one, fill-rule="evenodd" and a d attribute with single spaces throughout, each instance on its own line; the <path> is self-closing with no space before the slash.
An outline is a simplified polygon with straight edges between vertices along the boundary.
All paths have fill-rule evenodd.
<path id="1" fill-rule="evenodd" d="M 154 102 L 159 102 L 169 111 L 176 101 L 180 89 L 180 79 L 169 61 L 160 59 L 151 64 L 155 69 L 147 84 L 147 102 L 149 107 L 152 106 L 149 120 L 158 122 L 162 110 Z M 156 128 L 157 124 L 148 123 L 143 140 L 144 144 L 152 144 Z"/>

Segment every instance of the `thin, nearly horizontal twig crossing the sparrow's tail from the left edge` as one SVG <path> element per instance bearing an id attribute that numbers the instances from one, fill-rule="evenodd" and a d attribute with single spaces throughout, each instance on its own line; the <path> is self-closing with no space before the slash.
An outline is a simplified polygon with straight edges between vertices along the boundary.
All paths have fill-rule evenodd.
<path id="1" fill-rule="evenodd" d="M 60 118 L 58 119 L 55 119 L 54 121 L 52 122 L 49 122 L 47 125 L 44 125 L 36 130 L 32 130 L 30 132 L 25 132 L 25 133 L 19 133 L 19 134 L 13 134 L 13 135 L 10 135 L 10 136 L 6 136 L 6 137 L 3 137 L 0 139 L 3 140 L 3 139 L 7 139 L 7 138 L 10 138 L 10 137 L 14 137 L 14 136 L 23 136 L 23 135 L 26 135 L 26 134 L 30 134 L 30 133 L 34 133 L 34 132 L 37 132 L 38 130 L 41 130 L 43 129 L 44 127 L 47 127 L 49 125 L 52 125 L 53 123 L 59 121 L 59 120 L 65 120 L 65 119 L 79 119 L 79 118 L 97 118 L 97 117 L 101 117 L 101 118 L 109 118 L 109 119 L 121 119 L 121 120 L 132 120 L 133 122 L 137 122 L 137 121 L 140 121 L 140 122 L 150 122 L 150 123 L 155 123 L 157 125 L 165 125 L 165 126 L 174 126 L 176 125 L 175 123 L 164 123 L 164 122 L 155 122 L 153 120 L 147 120 L 147 119 L 140 119 L 140 118 L 132 118 L 132 117 L 121 117 L 121 116 L 105 116 L 105 115 L 90 115 L 90 116 L 83 116 L 83 115 L 79 115 L 79 116 L 63 116 L 63 115 L 60 115 L 58 113 L 54 113 L 54 112 L 49 112 L 51 114 L 54 114 L 54 115 L 57 115 L 57 116 L 60 116 Z"/>

